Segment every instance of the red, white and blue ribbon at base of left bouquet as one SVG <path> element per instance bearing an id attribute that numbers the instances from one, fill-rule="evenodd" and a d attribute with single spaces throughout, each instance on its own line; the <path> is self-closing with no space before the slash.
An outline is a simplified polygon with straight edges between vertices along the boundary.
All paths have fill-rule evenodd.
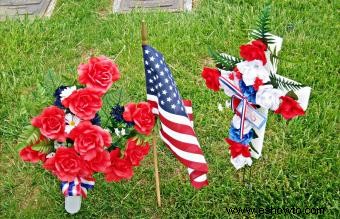
<path id="1" fill-rule="evenodd" d="M 93 189 L 94 180 L 76 177 L 72 182 L 61 182 L 64 196 L 82 196 L 86 198 L 87 190 Z"/>

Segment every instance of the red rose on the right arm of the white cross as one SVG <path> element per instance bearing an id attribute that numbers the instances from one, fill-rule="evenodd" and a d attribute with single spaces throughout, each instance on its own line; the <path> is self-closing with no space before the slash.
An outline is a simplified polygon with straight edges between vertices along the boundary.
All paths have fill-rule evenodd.
<path id="1" fill-rule="evenodd" d="M 296 116 L 305 115 L 305 111 L 303 111 L 302 107 L 296 102 L 293 98 L 288 96 L 280 97 L 281 104 L 274 113 L 281 114 L 285 119 L 292 119 Z"/>

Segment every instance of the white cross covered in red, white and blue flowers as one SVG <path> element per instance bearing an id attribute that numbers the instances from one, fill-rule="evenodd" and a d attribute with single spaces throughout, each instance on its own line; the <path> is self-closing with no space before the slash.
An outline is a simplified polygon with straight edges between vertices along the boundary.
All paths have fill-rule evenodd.
<path id="1" fill-rule="evenodd" d="M 309 102 L 310 87 L 277 74 L 283 39 L 269 33 L 269 9 L 265 7 L 251 32 L 253 40 L 240 47 L 242 58 L 210 50 L 217 69 L 202 72 L 209 89 L 223 89 L 231 97 L 234 116 L 225 140 L 236 169 L 261 156 L 268 110 L 289 120 L 304 115 Z"/>

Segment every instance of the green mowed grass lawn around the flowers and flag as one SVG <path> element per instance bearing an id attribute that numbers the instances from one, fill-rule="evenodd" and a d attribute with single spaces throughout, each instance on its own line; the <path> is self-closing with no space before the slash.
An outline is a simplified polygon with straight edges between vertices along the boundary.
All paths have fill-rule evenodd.
<path id="1" fill-rule="evenodd" d="M 50 19 L 1 22 L 0 217 L 69 216 L 57 178 L 39 164 L 20 160 L 18 136 L 32 116 L 52 104 L 53 89 L 38 89 L 46 74 L 54 72 L 58 83 L 73 84 L 78 64 L 91 55 L 116 58 L 122 77 L 112 90 L 124 89 L 123 103 L 145 100 L 140 39 L 144 18 L 150 43 L 166 57 L 182 96 L 194 103 L 195 129 L 209 163 L 210 185 L 192 188 L 186 168 L 159 141 L 161 208 L 156 206 L 150 153 L 131 181 L 108 184 L 96 175 L 95 189 L 75 218 L 261 216 L 228 215 L 227 207 L 325 207 L 325 218 L 339 218 L 336 1 L 282 0 L 272 5 L 272 32 L 284 37 L 279 73 L 310 85 L 312 95 L 304 117 L 287 122 L 269 114 L 263 157 L 245 174 L 250 183 L 244 184 L 243 172 L 232 167 L 224 142 L 233 114 L 219 112 L 217 104 L 228 97 L 208 90 L 200 76 L 204 65 L 213 65 L 209 47 L 238 55 L 265 2 L 200 0 L 190 13 L 112 14 L 109 0 L 58 0 Z"/>

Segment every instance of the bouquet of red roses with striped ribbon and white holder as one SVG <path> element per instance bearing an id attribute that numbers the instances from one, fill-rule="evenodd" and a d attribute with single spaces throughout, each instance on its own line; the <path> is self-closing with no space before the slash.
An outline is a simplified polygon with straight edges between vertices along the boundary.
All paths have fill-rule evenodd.
<path id="1" fill-rule="evenodd" d="M 146 136 L 155 124 L 149 103 L 117 105 L 107 118 L 112 125 L 101 125 L 103 98 L 119 78 L 112 60 L 90 58 L 78 67 L 80 85 L 60 86 L 54 104 L 34 117 L 21 136 L 22 160 L 42 162 L 43 168 L 61 181 L 65 197 L 86 197 L 97 172 L 103 173 L 107 182 L 131 179 L 133 167 L 149 152 Z M 68 210 L 65 202 L 70 213 L 77 212 L 78 205 Z"/>

